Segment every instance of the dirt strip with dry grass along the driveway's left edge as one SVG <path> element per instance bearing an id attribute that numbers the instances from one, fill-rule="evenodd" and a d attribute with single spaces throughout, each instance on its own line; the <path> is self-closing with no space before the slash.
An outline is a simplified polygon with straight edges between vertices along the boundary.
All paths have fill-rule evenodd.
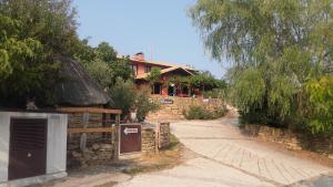
<path id="1" fill-rule="evenodd" d="M 194 157 L 193 152 L 172 136 L 170 145 L 158 154 L 143 154 L 132 159 L 71 169 L 68 172 L 69 176 L 63 179 L 30 187 L 112 187 L 130 180 L 138 174 L 171 169 Z"/>

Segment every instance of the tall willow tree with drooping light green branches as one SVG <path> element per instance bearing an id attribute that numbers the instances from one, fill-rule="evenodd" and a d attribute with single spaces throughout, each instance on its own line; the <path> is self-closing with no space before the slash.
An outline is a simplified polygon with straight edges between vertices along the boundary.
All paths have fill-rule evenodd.
<path id="1" fill-rule="evenodd" d="M 190 17 L 211 55 L 232 64 L 228 77 L 243 116 L 302 124 L 304 117 L 295 117 L 302 87 L 332 62 L 332 0 L 198 0 Z"/>

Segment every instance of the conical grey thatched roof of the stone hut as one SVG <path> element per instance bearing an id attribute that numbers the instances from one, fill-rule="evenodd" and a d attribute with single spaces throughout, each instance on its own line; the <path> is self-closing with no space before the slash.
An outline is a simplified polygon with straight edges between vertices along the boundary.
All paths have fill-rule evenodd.
<path id="1" fill-rule="evenodd" d="M 57 84 L 57 103 L 60 105 L 103 105 L 110 97 L 90 77 L 81 64 L 70 58 L 56 58 L 62 64 L 61 82 Z"/>

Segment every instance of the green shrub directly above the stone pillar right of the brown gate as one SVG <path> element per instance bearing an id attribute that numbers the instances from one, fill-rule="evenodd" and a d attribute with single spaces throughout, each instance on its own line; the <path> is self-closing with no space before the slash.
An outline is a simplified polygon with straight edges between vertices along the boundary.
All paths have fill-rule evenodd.
<path id="1" fill-rule="evenodd" d="M 149 95 L 150 90 L 147 89 L 141 90 L 137 93 L 135 107 L 138 108 L 137 117 L 139 122 L 143 122 L 149 112 L 153 112 L 159 108 L 159 105 L 154 101 L 149 98 Z"/>

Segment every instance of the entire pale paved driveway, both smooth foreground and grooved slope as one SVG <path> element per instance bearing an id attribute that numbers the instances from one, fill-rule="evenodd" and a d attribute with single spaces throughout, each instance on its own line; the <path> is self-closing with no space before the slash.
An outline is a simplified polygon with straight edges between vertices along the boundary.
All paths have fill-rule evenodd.
<path id="1" fill-rule="evenodd" d="M 200 156 L 173 169 L 135 176 L 118 187 L 283 186 L 332 172 L 249 139 L 236 125 L 235 117 L 173 124 L 173 133 Z"/>

